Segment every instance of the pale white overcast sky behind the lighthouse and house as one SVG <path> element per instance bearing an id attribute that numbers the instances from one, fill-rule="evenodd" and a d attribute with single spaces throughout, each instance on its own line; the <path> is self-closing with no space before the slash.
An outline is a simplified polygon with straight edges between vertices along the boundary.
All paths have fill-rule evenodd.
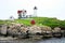
<path id="1" fill-rule="evenodd" d="M 38 8 L 37 15 L 65 19 L 65 0 L 0 0 L 0 19 L 8 19 L 11 15 L 17 18 L 17 10 L 27 10 L 34 14 L 34 6 Z"/>

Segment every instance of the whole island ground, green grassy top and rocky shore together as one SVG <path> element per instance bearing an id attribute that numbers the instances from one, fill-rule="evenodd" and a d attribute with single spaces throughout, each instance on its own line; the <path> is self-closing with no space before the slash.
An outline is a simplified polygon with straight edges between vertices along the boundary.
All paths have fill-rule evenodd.
<path id="1" fill-rule="evenodd" d="M 31 20 L 32 19 L 32 20 Z M 13 39 L 44 39 L 65 37 L 64 26 L 56 18 L 34 17 L 30 19 L 1 20 L 0 37 Z M 5 24 L 4 24 L 5 23 Z M 63 22 L 64 23 L 64 22 Z M 1 39 L 3 40 L 3 39 Z"/>

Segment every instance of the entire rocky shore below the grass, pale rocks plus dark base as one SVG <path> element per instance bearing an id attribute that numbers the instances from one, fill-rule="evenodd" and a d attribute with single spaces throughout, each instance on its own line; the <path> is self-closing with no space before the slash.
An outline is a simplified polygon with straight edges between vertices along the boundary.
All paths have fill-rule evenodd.
<path id="1" fill-rule="evenodd" d="M 10 37 L 11 39 L 42 39 L 42 38 L 61 38 L 65 37 L 64 30 L 58 27 L 52 29 L 48 26 L 25 26 L 23 24 L 12 23 L 10 25 L 0 25 L 0 37 Z M 1 38 L 2 38 L 1 37 Z M 3 39 L 2 39 L 3 40 Z"/>

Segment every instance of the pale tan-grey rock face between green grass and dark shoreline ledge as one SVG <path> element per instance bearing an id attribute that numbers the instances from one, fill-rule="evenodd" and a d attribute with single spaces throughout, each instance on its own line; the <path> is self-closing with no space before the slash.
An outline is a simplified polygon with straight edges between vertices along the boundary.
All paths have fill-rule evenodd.
<path id="1" fill-rule="evenodd" d="M 61 28 L 55 27 L 54 30 L 51 29 L 51 27 L 48 26 L 25 26 L 22 24 L 11 24 L 11 25 L 2 25 L 0 27 L 0 33 L 2 34 L 9 34 L 9 35 L 14 35 L 17 38 L 25 38 L 25 37 L 37 37 L 40 34 L 49 33 L 51 34 L 52 32 L 58 32 L 61 31 Z"/>

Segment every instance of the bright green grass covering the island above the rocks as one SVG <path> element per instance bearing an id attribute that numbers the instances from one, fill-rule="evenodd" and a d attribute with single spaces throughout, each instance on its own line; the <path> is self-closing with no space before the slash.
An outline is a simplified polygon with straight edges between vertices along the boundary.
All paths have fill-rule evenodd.
<path id="1" fill-rule="evenodd" d="M 38 26 L 50 26 L 52 29 L 54 27 L 61 27 L 62 29 L 65 29 L 65 20 L 60 20 L 56 18 L 48 18 L 48 17 L 32 17 L 32 18 L 27 18 L 27 19 L 15 19 L 14 23 L 20 23 L 24 25 L 31 25 L 30 20 L 35 19 L 36 25 Z M 12 22 L 10 20 L 0 20 L 0 24 L 11 24 Z"/>

